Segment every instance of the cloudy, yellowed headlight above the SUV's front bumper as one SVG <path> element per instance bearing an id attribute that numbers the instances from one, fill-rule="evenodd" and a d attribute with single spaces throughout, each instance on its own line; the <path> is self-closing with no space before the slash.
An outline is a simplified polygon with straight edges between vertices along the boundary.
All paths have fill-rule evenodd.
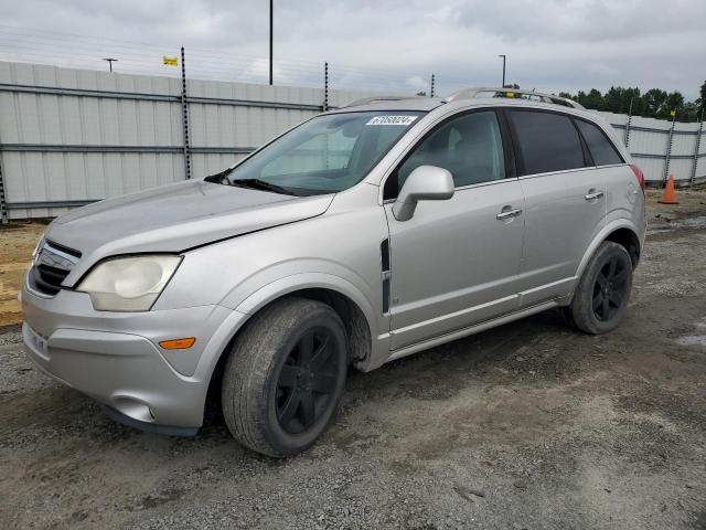
<path id="1" fill-rule="evenodd" d="M 181 263 L 181 256 L 117 257 L 99 263 L 76 290 L 98 311 L 147 311 Z"/>

